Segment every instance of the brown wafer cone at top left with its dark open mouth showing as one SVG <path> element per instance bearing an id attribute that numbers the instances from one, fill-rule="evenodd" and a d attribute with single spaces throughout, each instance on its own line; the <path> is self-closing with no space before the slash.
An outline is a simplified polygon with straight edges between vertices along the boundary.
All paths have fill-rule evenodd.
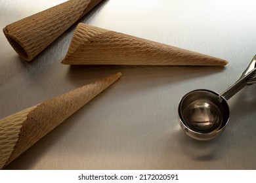
<path id="1" fill-rule="evenodd" d="M 66 1 L 9 24 L 3 32 L 20 57 L 31 61 L 100 1 Z"/>

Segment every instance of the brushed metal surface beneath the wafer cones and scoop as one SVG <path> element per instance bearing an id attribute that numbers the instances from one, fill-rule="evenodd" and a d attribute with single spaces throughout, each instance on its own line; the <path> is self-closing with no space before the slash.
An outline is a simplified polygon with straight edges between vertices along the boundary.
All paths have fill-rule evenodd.
<path id="1" fill-rule="evenodd" d="M 61 2 L 1 0 L 0 27 Z M 79 21 L 223 58 L 226 67 L 61 65 L 75 25 L 26 63 L 0 33 L 0 118 L 123 74 L 6 169 L 256 169 L 255 85 L 228 101 L 232 123 L 213 141 L 195 141 L 177 123 L 185 93 L 224 91 L 255 55 L 254 2 L 107 0 Z"/>

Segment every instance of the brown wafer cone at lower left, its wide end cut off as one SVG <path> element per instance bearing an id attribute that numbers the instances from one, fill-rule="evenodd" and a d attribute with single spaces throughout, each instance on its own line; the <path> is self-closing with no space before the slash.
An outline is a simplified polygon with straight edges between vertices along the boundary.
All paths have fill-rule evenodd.
<path id="1" fill-rule="evenodd" d="M 114 83 L 121 73 L 107 76 L 0 120 L 0 169 Z"/>

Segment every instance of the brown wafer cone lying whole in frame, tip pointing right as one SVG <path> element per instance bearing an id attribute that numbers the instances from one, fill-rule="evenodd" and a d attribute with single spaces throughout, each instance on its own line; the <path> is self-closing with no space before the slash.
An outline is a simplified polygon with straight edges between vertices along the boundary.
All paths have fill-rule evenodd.
<path id="1" fill-rule="evenodd" d="M 226 65 L 228 62 L 92 25 L 78 24 L 62 61 L 68 65 Z"/>

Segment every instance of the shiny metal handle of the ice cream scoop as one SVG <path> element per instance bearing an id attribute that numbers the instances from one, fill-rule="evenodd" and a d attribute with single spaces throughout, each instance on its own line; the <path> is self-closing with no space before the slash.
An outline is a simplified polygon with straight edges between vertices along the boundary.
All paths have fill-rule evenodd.
<path id="1" fill-rule="evenodd" d="M 247 84 L 256 83 L 256 55 L 253 57 L 242 76 L 230 88 L 221 93 L 226 100 L 230 99 L 234 94 L 242 90 Z"/>

